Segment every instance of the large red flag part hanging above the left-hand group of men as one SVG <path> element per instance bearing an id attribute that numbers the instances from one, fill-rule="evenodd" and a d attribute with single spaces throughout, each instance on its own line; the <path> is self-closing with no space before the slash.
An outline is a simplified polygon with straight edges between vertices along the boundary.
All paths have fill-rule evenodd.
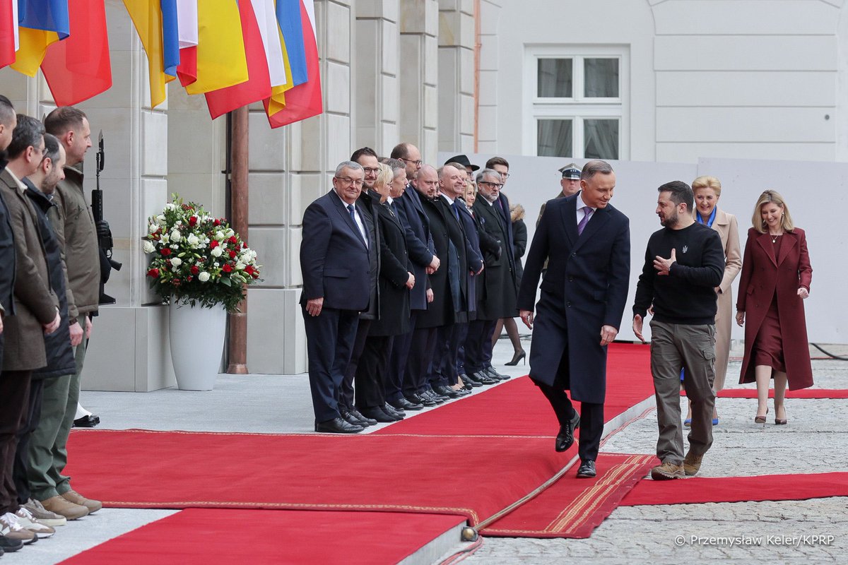
<path id="1" fill-rule="evenodd" d="M 103 0 L 70 0 L 71 34 L 47 47 L 42 72 L 57 106 L 73 106 L 112 86 Z"/>

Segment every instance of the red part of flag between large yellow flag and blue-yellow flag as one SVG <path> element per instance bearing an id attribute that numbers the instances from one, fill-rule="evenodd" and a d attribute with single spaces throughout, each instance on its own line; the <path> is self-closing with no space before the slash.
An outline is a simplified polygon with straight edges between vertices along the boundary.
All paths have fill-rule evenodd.
<path id="1" fill-rule="evenodd" d="M 254 8 L 250 2 L 238 3 L 238 14 L 242 19 L 244 53 L 248 59 L 246 82 L 227 86 L 216 91 L 206 92 L 206 104 L 212 119 L 236 108 L 242 108 L 253 102 L 271 97 L 271 76 L 268 73 L 268 59 L 265 58 L 265 46 L 259 33 Z"/>

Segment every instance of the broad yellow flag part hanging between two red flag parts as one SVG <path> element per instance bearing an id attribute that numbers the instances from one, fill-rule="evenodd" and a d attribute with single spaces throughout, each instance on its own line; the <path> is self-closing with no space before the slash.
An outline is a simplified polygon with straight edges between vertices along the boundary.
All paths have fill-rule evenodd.
<path id="1" fill-rule="evenodd" d="M 186 86 L 189 94 L 248 80 L 241 22 L 236 0 L 198 0 L 198 80 Z"/>

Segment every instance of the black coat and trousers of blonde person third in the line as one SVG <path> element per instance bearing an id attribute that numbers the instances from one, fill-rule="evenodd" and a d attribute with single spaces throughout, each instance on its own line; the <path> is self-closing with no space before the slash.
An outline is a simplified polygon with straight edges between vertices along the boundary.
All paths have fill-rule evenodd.
<path id="1" fill-rule="evenodd" d="M 390 379 L 388 360 L 393 338 L 410 330 L 410 291 L 406 281 L 412 265 L 406 250 L 405 228 L 388 202 L 374 207 L 382 241 L 380 319 L 371 323 L 356 373 L 356 407 L 382 407 Z M 393 390 L 399 388 L 393 384 Z"/>

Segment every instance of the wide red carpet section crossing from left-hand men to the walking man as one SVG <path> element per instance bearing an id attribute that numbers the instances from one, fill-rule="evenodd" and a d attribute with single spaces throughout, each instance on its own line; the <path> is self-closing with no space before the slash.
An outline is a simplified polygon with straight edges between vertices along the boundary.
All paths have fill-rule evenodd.
<path id="1" fill-rule="evenodd" d="M 455 513 L 474 525 L 577 449 L 552 447 L 550 437 L 84 430 L 70 435 L 68 471 L 109 507 Z M 461 477 L 475 477 L 474 488 Z"/>

